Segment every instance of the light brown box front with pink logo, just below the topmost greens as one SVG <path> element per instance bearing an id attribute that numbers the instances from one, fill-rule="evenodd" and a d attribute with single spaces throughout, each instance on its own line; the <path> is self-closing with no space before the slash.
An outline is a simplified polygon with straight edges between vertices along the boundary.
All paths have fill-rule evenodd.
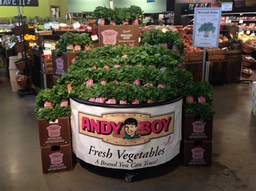
<path id="1" fill-rule="evenodd" d="M 99 46 L 104 45 L 139 46 L 138 25 L 99 26 Z"/>

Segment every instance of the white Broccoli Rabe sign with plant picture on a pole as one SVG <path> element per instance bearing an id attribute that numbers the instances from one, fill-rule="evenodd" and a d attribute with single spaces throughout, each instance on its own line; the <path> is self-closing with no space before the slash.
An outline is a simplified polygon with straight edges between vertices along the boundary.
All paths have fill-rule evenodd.
<path id="1" fill-rule="evenodd" d="M 221 8 L 195 8 L 193 46 L 218 47 Z"/>

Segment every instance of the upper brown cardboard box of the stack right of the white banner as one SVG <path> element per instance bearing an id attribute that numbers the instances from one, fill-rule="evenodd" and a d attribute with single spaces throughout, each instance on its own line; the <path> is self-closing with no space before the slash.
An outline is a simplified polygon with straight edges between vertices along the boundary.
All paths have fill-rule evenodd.
<path id="1" fill-rule="evenodd" d="M 184 140 L 212 140 L 213 122 L 207 120 L 200 121 L 196 116 L 184 115 L 183 138 Z"/>

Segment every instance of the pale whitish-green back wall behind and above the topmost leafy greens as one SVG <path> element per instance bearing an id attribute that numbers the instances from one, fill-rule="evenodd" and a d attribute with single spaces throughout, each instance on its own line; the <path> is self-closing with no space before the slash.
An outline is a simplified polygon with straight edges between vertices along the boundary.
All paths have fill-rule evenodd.
<path id="1" fill-rule="evenodd" d="M 156 0 L 153 3 L 147 3 L 146 0 L 113 0 L 114 6 L 129 7 L 137 5 L 145 13 L 166 11 L 166 0 Z M 96 6 L 109 7 L 109 0 L 69 0 L 69 10 L 71 12 L 93 11 Z"/>

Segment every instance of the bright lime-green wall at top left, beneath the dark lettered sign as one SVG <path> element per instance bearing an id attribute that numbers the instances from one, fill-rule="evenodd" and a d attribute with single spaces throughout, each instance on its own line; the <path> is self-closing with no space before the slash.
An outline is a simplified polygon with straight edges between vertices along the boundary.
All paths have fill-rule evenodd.
<path id="1" fill-rule="evenodd" d="M 68 0 L 38 0 L 39 6 L 24 6 L 22 15 L 30 17 L 50 17 L 50 5 L 60 6 L 60 17 L 65 17 Z M 0 6 L 0 17 L 17 16 L 17 6 Z"/>

